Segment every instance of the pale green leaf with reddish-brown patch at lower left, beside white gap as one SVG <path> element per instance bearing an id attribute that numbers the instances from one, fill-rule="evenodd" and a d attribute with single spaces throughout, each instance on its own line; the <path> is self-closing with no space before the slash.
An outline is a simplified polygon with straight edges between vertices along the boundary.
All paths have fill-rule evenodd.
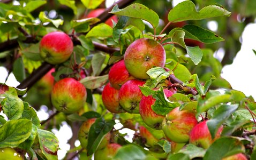
<path id="1" fill-rule="evenodd" d="M 57 159 L 58 139 L 54 133 L 37 129 L 39 145 L 42 153 L 47 159 Z"/>

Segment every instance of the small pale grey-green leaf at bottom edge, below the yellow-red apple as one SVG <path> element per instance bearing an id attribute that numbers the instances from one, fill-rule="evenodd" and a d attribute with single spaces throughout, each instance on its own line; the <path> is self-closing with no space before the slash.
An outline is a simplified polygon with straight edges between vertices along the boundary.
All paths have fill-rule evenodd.
<path id="1" fill-rule="evenodd" d="M 193 159 L 195 157 L 204 157 L 205 151 L 206 150 L 204 148 L 188 144 L 184 148 L 180 149 L 179 153 L 186 154 L 190 157 L 190 159 Z"/>

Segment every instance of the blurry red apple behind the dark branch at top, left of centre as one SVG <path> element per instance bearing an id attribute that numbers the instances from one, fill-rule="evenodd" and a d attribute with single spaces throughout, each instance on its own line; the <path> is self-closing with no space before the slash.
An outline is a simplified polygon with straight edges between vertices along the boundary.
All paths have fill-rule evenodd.
<path id="1" fill-rule="evenodd" d="M 86 14 L 82 15 L 81 19 L 98 17 L 102 12 L 104 12 L 104 10 L 105 9 L 95 9 L 95 10 L 92 10 L 87 15 Z M 105 23 L 107 25 L 109 25 L 110 27 L 113 27 L 112 20 L 117 23 L 117 20 L 118 20 L 117 16 L 116 15 L 112 15 L 112 17 L 107 19 L 107 21 Z"/>

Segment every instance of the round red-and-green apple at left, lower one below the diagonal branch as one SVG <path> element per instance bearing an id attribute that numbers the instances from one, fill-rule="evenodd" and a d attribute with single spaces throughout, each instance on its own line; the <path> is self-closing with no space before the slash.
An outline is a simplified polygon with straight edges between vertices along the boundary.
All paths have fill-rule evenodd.
<path id="1" fill-rule="evenodd" d="M 64 113 L 74 113 L 84 107 L 86 88 L 74 78 L 64 78 L 56 82 L 51 92 L 52 105 Z"/>

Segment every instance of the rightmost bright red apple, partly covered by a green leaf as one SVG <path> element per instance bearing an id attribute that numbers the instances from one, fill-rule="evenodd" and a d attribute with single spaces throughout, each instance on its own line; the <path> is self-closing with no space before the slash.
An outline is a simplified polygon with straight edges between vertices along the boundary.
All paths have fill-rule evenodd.
<path id="1" fill-rule="evenodd" d="M 190 143 L 202 147 L 202 148 L 209 148 L 212 143 L 221 137 L 221 132 L 223 130 L 223 126 L 220 126 L 218 129 L 215 138 L 212 139 L 212 136 L 210 135 L 208 126 L 207 126 L 207 120 L 198 123 L 193 127 L 193 129 L 190 132 Z"/>

